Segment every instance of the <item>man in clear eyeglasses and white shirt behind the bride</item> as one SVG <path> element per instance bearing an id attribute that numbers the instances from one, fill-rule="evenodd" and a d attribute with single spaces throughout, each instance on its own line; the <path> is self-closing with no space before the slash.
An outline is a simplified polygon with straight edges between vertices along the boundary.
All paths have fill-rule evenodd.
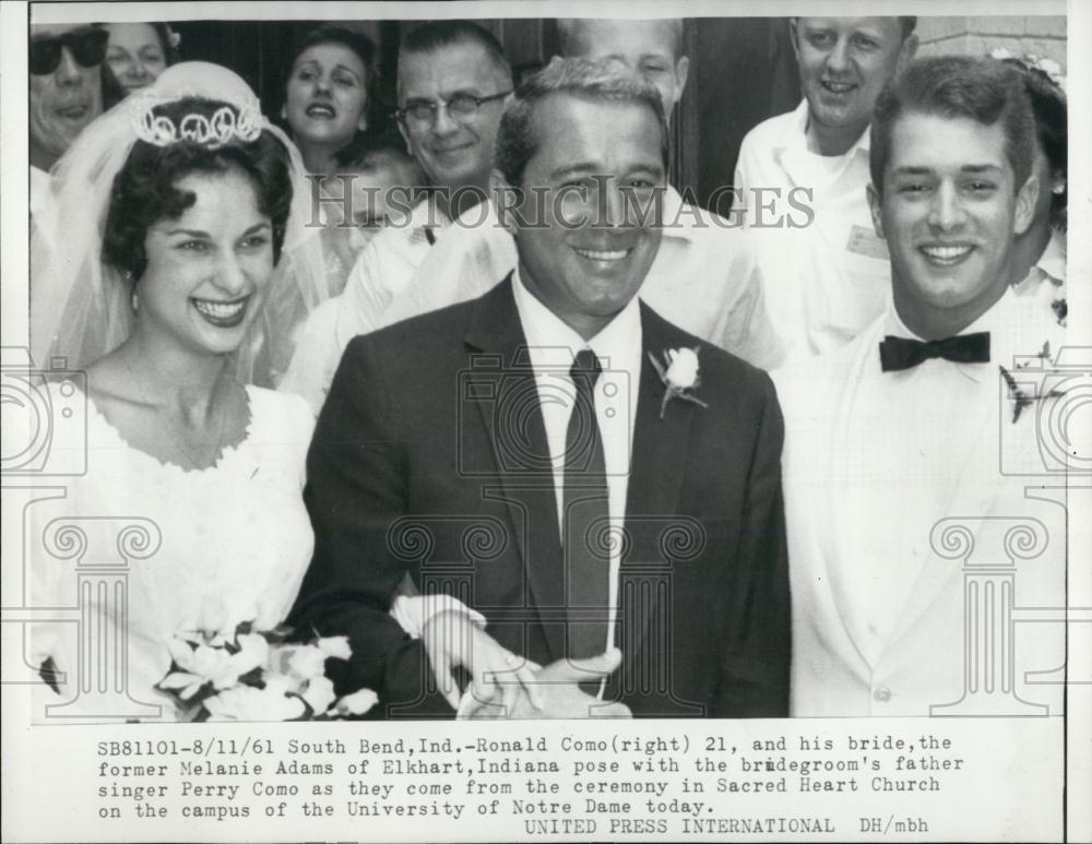
<path id="1" fill-rule="evenodd" d="M 341 296 L 308 318 L 280 389 L 322 406 L 342 352 L 414 280 L 451 219 L 486 199 L 494 143 L 512 71 L 488 31 L 470 21 L 434 21 L 399 48 L 399 130 L 432 188 L 405 221 L 365 248 Z"/>

